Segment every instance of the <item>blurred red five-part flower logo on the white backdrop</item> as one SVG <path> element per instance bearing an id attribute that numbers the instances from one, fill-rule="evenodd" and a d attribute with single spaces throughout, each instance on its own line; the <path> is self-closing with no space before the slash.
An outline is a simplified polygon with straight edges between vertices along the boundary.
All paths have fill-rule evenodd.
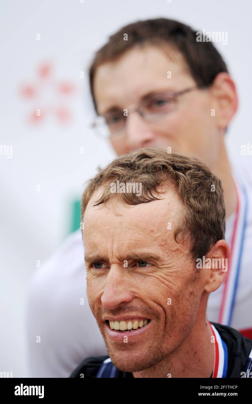
<path id="1" fill-rule="evenodd" d="M 50 115 L 55 116 L 61 124 L 70 122 L 73 117 L 67 103 L 76 88 L 68 80 L 55 81 L 52 70 L 52 64 L 42 63 L 37 69 L 36 84 L 24 84 L 20 87 L 21 96 L 27 101 L 34 101 L 28 116 L 30 124 L 41 123 Z"/>

